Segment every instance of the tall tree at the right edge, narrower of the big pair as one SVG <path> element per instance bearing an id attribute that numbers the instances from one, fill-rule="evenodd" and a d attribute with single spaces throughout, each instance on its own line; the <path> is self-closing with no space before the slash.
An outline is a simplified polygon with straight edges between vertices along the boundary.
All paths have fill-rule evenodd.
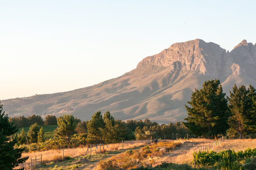
<path id="1" fill-rule="evenodd" d="M 235 84 L 232 88 L 232 92 L 230 91 L 230 97 L 228 97 L 228 106 L 231 112 L 229 119 L 230 131 L 236 131 L 240 139 L 252 132 L 252 126 L 254 126 L 255 123 L 253 122 L 251 112 L 253 102 L 249 97 L 253 96 L 252 93 L 255 93 L 255 89 L 253 89 L 252 86 L 250 87 L 251 89 L 246 89 L 245 85 L 241 85 L 238 88 Z"/>

